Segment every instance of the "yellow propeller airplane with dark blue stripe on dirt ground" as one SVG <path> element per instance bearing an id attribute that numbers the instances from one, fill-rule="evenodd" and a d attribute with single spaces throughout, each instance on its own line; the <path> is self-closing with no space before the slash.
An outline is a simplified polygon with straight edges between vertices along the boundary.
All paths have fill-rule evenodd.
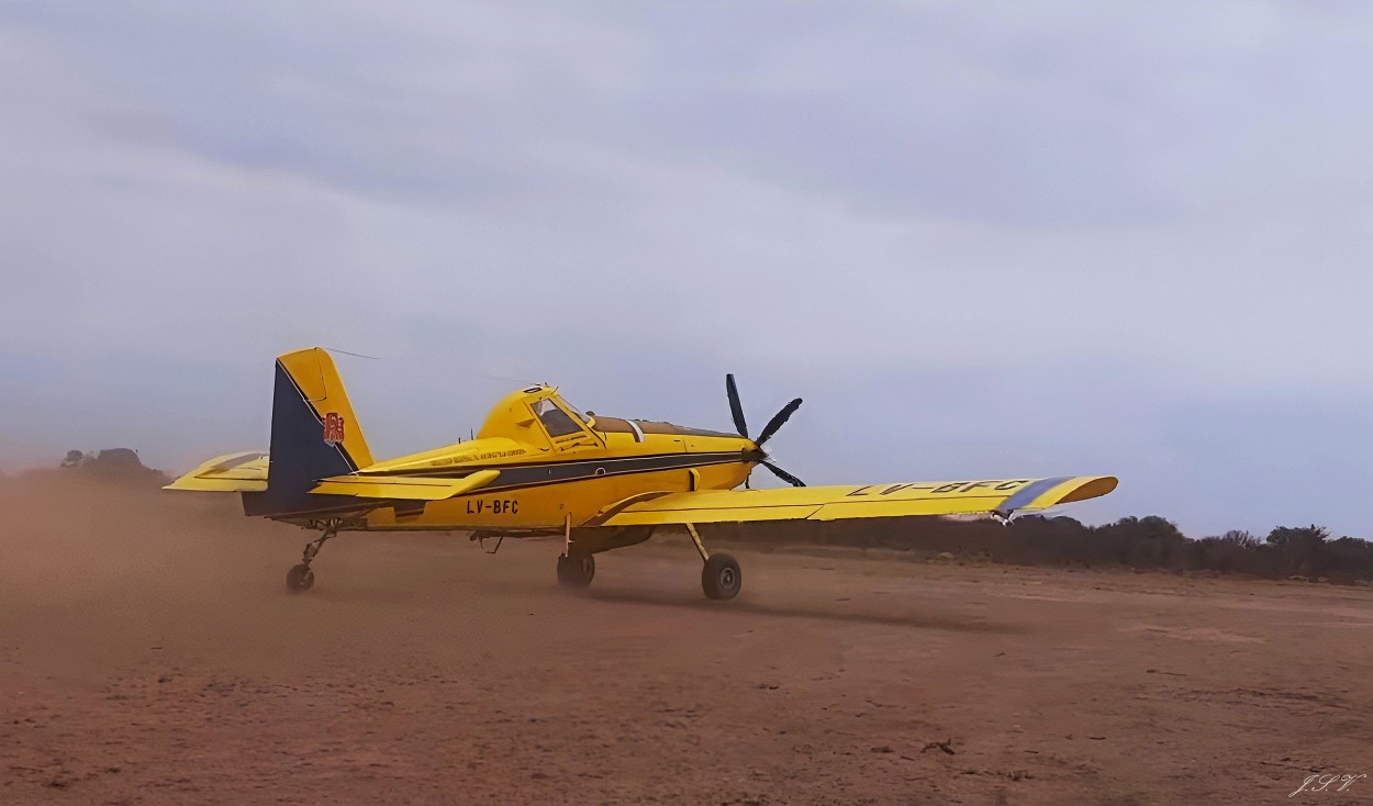
<path id="1" fill-rule="evenodd" d="M 218 456 L 166 489 L 240 493 L 246 515 L 317 530 L 286 577 L 297 592 L 314 585 L 316 555 L 346 530 L 464 530 L 483 548 L 493 538 L 496 549 L 505 537 L 562 536 L 557 581 L 585 588 L 596 573 L 595 555 L 643 542 L 656 527 L 680 526 L 704 563 L 706 596 L 733 599 L 743 582 L 739 563 L 706 549 L 700 523 L 957 514 L 1009 519 L 1116 486 L 1112 476 L 1059 476 L 807 487 L 762 449 L 800 398 L 750 438 L 732 375 L 725 389 L 737 434 L 584 415 L 555 387 L 540 384 L 505 395 L 472 439 L 373 461 L 334 360 L 312 347 L 276 360 L 268 453 Z M 747 486 L 759 464 L 792 486 L 736 489 Z"/>

